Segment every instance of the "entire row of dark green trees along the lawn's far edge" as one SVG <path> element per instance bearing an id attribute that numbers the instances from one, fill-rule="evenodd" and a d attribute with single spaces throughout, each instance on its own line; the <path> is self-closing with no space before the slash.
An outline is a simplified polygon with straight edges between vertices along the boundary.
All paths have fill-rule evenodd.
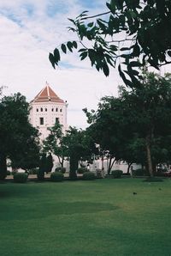
<path id="1" fill-rule="evenodd" d="M 97 111 L 88 112 L 89 127 L 70 127 L 62 132 L 58 122 L 39 146 L 38 130 L 29 123 L 29 104 L 21 94 L 0 101 L 0 178 L 7 171 L 7 159 L 13 168 L 30 169 L 41 165 L 50 172 L 57 155 L 63 167 L 70 162 L 70 178 L 76 178 L 78 165 L 92 162 L 92 155 L 109 157 L 109 172 L 115 161 L 141 163 L 152 176 L 156 165 L 171 161 L 171 74 L 164 77 L 142 71 L 141 86 L 119 88 L 118 97 L 104 97 Z M 96 147 L 96 145 L 99 145 Z M 48 156 L 40 152 L 49 153 Z M 93 157 L 94 158 L 94 157 Z M 49 163 L 50 164 L 49 164 Z M 50 168 L 49 168 L 50 167 Z"/>

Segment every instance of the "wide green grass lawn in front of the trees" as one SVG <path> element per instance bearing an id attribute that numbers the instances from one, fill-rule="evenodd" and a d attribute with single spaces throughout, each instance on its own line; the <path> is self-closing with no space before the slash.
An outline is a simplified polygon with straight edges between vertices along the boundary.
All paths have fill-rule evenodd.
<path id="1" fill-rule="evenodd" d="M 171 180 L 0 184 L 0 254 L 170 256 Z"/>

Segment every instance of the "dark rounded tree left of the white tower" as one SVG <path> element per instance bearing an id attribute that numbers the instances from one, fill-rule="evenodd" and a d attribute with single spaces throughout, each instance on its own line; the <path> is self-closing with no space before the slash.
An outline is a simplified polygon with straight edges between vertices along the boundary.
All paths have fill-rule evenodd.
<path id="1" fill-rule="evenodd" d="M 28 119 L 29 104 L 20 93 L 4 96 L 0 101 L 0 178 L 6 175 L 6 159 L 23 166 L 24 159 L 32 152 L 38 155 L 38 130 Z M 23 161 L 21 161 L 21 159 Z M 27 163 L 29 165 L 31 163 Z M 31 164 L 32 165 L 32 164 Z M 1 175 L 2 174 L 2 175 Z"/>

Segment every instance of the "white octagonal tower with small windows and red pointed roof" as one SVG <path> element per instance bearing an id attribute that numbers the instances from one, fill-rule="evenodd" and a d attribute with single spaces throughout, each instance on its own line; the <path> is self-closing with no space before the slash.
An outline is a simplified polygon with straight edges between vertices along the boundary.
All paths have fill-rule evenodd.
<path id="1" fill-rule="evenodd" d="M 40 139 L 44 140 L 50 133 L 47 128 L 55 125 L 56 120 L 63 127 L 63 132 L 68 129 L 67 125 L 67 101 L 60 99 L 46 82 L 45 87 L 36 95 L 30 103 L 30 122 L 41 133 Z"/>

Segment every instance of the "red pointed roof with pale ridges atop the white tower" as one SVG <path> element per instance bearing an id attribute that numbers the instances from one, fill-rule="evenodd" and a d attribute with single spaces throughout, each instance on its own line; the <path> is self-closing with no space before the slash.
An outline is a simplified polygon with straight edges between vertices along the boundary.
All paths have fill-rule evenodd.
<path id="1" fill-rule="evenodd" d="M 46 86 L 36 95 L 33 102 L 61 102 L 64 103 L 62 99 L 60 99 L 57 94 L 50 88 L 49 84 L 46 82 Z"/>

